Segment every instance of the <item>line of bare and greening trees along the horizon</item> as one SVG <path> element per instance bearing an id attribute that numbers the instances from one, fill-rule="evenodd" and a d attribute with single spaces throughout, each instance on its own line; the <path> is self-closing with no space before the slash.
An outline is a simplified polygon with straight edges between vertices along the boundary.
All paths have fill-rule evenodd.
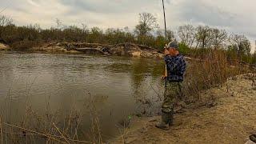
<path id="1" fill-rule="evenodd" d="M 203 54 L 207 50 L 224 50 L 229 58 L 256 63 L 256 54 L 250 54 L 250 41 L 245 35 L 228 34 L 210 26 L 179 26 L 177 32 L 167 30 L 167 42 L 177 39 L 183 54 L 196 51 Z M 89 42 L 118 44 L 130 42 L 151 46 L 162 50 L 166 44 L 165 31 L 158 26 L 157 18 L 150 13 L 139 14 L 138 24 L 134 30 L 99 27 L 89 27 L 86 23 L 80 26 L 65 26 L 56 19 L 56 26 L 42 29 L 38 24 L 15 26 L 13 19 L 0 16 L 0 42 L 13 48 L 26 49 L 29 46 L 40 45 L 43 42 Z"/>

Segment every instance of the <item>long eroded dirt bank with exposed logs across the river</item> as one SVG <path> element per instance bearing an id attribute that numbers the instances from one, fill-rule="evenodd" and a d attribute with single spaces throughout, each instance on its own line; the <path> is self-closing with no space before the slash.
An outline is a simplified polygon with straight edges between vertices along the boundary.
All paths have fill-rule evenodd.
<path id="1" fill-rule="evenodd" d="M 78 51 L 86 54 L 110 54 L 110 55 L 126 55 L 144 58 L 162 58 L 162 54 L 148 46 L 135 45 L 132 43 L 121 43 L 117 45 L 98 44 L 98 43 L 76 43 L 76 42 L 60 42 L 51 43 L 43 47 L 46 50 L 70 50 Z"/>

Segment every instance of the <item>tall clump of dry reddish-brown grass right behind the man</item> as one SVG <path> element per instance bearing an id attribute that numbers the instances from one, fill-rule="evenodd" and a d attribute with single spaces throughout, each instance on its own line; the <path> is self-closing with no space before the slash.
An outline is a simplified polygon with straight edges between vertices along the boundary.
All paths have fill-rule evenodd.
<path id="1" fill-rule="evenodd" d="M 228 62 L 226 53 L 222 50 L 208 50 L 203 58 L 202 56 L 193 58 L 189 65 L 183 90 L 187 102 L 202 100 L 203 95 L 200 95 L 200 90 L 222 86 L 227 78 L 244 74 L 248 70 L 239 63 Z"/>

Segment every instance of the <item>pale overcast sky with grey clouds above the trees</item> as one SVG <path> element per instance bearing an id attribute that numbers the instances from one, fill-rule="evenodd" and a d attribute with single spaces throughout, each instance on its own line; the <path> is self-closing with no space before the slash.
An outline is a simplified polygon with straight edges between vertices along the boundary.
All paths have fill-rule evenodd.
<path id="1" fill-rule="evenodd" d="M 163 28 L 161 0 L 0 0 L 1 14 L 20 26 L 38 23 L 43 28 L 65 25 L 99 26 L 130 30 L 138 23 L 138 14 L 149 12 Z M 172 30 L 183 24 L 208 25 L 245 34 L 254 47 L 256 40 L 255 0 L 165 0 L 166 23 Z"/>

